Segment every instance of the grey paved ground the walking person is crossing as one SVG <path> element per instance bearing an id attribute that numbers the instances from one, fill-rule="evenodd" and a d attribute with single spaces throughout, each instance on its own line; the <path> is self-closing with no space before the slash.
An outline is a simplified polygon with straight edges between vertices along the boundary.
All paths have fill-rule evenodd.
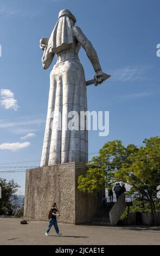
<path id="1" fill-rule="evenodd" d="M 21 225 L 18 218 L 0 218 L 0 245 L 160 245 L 160 227 L 98 227 L 59 224 L 44 236 L 48 222 Z"/>

